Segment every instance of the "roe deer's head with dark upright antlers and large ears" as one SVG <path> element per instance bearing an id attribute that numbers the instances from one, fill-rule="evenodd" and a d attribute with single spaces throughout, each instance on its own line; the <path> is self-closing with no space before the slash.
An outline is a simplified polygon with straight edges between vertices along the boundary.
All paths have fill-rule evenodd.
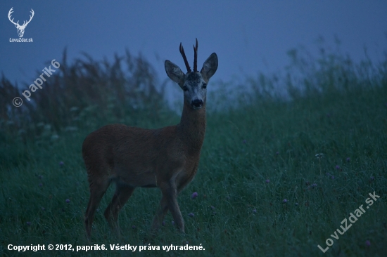
<path id="1" fill-rule="evenodd" d="M 193 109 L 201 109 L 205 103 L 208 81 L 217 70 L 217 55 L 212 53 L 205 60 L 201 71 L 198 72 L 198 39 L 196 39 L 196 46 L 194 46 L 194 71 L 189 67 L 182 43 L 180 43 L 180 53 L 186 65 L 187 73 L 184 74 L 179 66 L 169 60 L 165 60 L 165 71 L 168 77 L 183 89 L 184 103 Z"/>

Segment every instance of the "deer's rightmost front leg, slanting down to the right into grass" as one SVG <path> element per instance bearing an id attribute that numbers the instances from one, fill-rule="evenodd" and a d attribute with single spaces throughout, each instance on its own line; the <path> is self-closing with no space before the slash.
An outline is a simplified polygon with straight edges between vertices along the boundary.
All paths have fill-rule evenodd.
<path id="1" fill-rule="evenodd" d="M 184 233 L 184 220 L 182 212 L 179 209 L 179 204 L 177 203 L 177 190 L 175 181 L 169 181 L 165 183 L 163 187 L 160 187 L 161 192 L 163 193 L 163 198 L 166 199 L 167 208 L 172 213 L 172 217 L 175 220 L 177 228 L 180 232 Z"/>

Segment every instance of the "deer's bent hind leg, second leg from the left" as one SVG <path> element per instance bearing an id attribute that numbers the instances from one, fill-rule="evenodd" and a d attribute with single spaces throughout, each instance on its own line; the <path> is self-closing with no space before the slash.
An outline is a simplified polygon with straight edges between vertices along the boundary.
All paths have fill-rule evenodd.
<path id="1" fill-rule="evenodd" d="M 125 205 L 127 200 L 132 196 L 135 187 L 129 185 L 116 184 L 113 199 L 105 210 L 105 218 L 113 228 L 115 234 L 120 237 L 120 226 L 118 224 L 118 213 Z"/>

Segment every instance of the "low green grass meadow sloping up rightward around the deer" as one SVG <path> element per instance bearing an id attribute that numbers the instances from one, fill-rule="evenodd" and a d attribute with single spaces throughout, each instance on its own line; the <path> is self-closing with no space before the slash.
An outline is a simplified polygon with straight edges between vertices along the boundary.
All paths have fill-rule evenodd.
<path id="1" fill-rule="evenodd" d="M 386 256 L 384 65 L 379 67 L 378 79 L 347 77 L 352 81 L 348 87 L 319 84 L 322 92 L 291 101 L 257 98 L 228 112 L 208 112 L 198 173 L 178 198 L 186 235 L 177 233 L 168 213 L 158 235 L 148 237 L 161 193 L 140 188 L 120 212 L 122 238 L 117 239 L 103 218 L 113 196 L 112 185 L 92 231 L 92 244 L 105 244 L 108 251 L 27 251 L 24 256 L 129 256 L 129 251 L 110 251 L 110 244 L 162 247 L 187 242 L 205 250 L 139 252 L 137 248 L 135 255 Z M 316 78 L 331 74 L 317 71 Z M 157 128 L 179 122 L 179 115 L 167 110 L 156 116 L 134 119 L 126 115 L 116 121 L 113 116 L 101 123 Z M 91 122 L 80 129 L 63 129 L 55 133 L 58 137 L 27 130 L 20 137 L 12 136 L 13 129 L 3 121 L 2 256 L 20 254 L 8 251 L 8 244 L 89 245 L 83 225 L 89 186 L 81 146 L 85 136 L 100 125 Z M 317 158 L 316 154 L 323 155 Z M 195 199 L 193 192 L 198 193 Z M 374 192 L 380 198 L 367 209 L 365 201 Z M 342 220 L 348 220 L 361 205 L 365 213 L 343 235 L 337 232 L 338 239 L 331 237 L 337 229 L 343 231 Z M 332 241 L 327 242 L 334 244 L 322 253 L 317 245 L 325 249 L 329 238 Z"/>

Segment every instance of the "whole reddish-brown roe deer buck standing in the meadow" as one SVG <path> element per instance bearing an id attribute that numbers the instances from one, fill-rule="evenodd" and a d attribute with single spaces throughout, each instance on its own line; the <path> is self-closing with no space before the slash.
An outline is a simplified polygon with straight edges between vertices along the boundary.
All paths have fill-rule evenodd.
<path id="1" fill-rule="evenodd" d="M 104 215 L 118 235 L 118 213 L 135 187 L 160 187 L 163 194 L 160 208 L 153 218 L 153 230 L 158 229 L 170 210 L 177 228 L 184 233 L 177 195 L 191 182 L 198 169 L 205 133 L 206 87 L 217 70 L 217 55 L 212 53 L 198 72 L 198 40 L 194 46 L 194 71 L 189 67 L 181 43 L 180 53 L 186 65 L 186 74 L 177 65 L 165 60 L 168 77 L 184 91 L 179 124 L 162 129 L 112 124 L 90 133 L 84 140 L 82 156 L 90 187 L 84 217 L 88 239 L 94 212 L 111 181 L 115 182 L 116 189 Z"/>

